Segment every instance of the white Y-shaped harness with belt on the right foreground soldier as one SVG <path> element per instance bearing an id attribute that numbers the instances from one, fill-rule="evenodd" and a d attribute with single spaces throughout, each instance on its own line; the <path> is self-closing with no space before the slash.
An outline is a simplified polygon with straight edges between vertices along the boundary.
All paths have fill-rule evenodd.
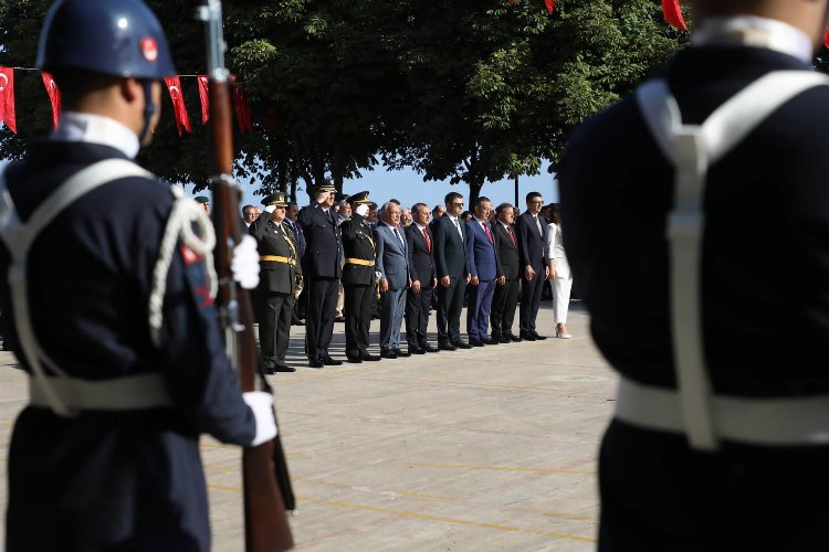
<path id="1" fill-rule="evenodd" d="M 678 391 L 622 379 L 618 418 L 685 433 L 691 446 L 699 449 L 716 449 L 718 437 L 772 445 L 829 443 L 829 396 L 754 400 L 712 395 L 705 369 L 700 298 L 705 226 L 702 203 L 709 167 L 789 99 L 827 84 L 829 77 L 819 73 L 769 73 L 720 106 L 702 126 L 682 124 L 676 100 L 664 81 L 650 81 L 637 91 L 648 128 L 675 168 L 668 240 Z"/>

